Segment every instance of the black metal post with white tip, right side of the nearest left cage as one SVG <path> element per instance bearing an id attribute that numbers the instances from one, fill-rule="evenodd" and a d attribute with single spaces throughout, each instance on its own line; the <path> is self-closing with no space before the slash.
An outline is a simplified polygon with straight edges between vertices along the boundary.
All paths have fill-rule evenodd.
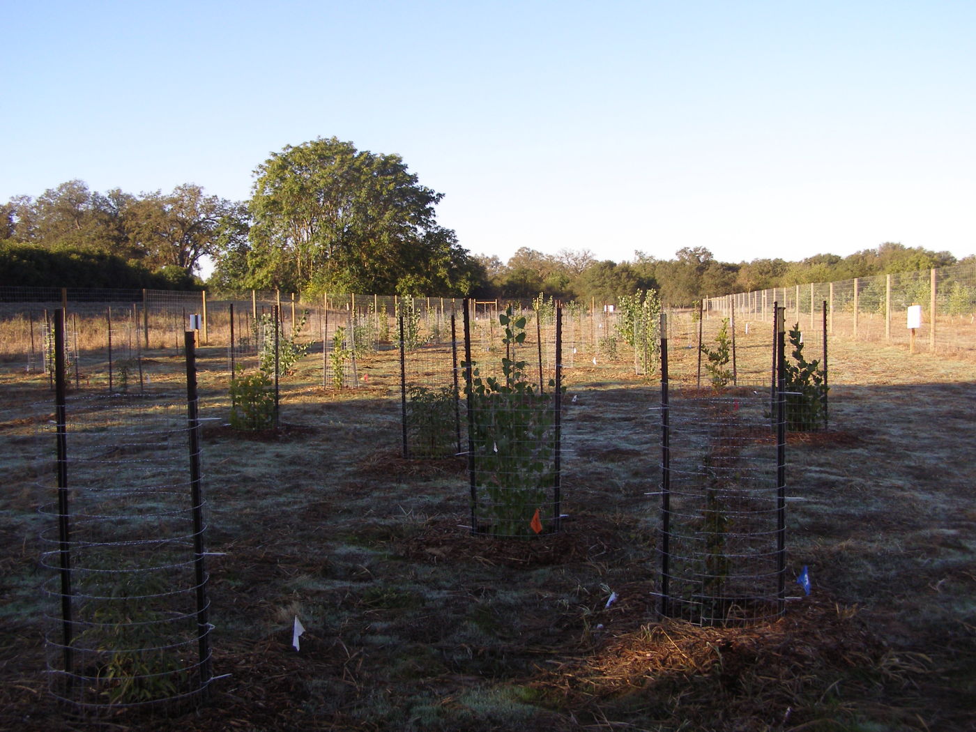
<path id="1" fill-rule="evenodd" d="M 211 681 L 210 622 L 208 619 L 207 571 L 204 566 L 203 497 L 200 477 L 200 418 L 196 387 L 195 334 L 186 331 L 186 414 L 189 431 L 190 502 L 193 511 L 193 569 L 196 580 L 196 631 L 200 653 L 200 689 L 205 692 Z"/>

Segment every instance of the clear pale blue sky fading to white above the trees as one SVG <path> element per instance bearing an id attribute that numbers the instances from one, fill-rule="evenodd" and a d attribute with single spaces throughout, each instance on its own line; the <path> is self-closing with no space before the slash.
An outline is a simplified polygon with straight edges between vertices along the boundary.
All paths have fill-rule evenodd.
<path id="1" fill-rule="evenodd" d="M 0 200 L 399 153 L 474 254 L 976 252 L 976 2 L 0 0 Z"/>

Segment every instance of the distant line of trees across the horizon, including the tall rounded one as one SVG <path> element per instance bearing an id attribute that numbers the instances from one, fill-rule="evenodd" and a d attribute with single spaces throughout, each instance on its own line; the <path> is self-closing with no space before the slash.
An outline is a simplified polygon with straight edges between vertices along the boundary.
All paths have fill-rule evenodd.
<path id="1" fill-rule="evenodd" d="M 399 155 L 316 139 L 286 145 L 255 169 L 252 196 L 229 201 L 184 183 L 169 193 L 92 191 L 68 181 L 0 205 L 0 285 L 203 286 L 317 294 L 611 300 L 656 290 L 666 305 L 770 287 L 956 264 L 948 252 L 884 243 L 849 257 L 800 262 L 716 261 L 704 247 L 671 260 L 634 252 L 598 261 L 588 249 L 548 255 L 523 247 L 503 263 L 472 256 L 437 224 L 442 194 Z M 973 258 L 967 258 L 971 260 Z"/>

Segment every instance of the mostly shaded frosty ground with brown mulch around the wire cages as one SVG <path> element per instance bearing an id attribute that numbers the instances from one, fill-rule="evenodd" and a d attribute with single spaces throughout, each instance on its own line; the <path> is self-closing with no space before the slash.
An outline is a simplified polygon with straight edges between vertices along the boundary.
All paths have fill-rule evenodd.
<path id="1" fill-rule="evenodd" d="M 222 418 L 203 439 L 224 677 L 197 711 L 106 729 L 976 728 L 976 364 L 832 344 L 831 426 L 788 446 L 788 576 L 808 566 L 813 591 L 774 623 L 703 629 L 659 621 L 650 595 L 654 383 L 567 373 L 570 518 L 512 542 L 463 528 L 462 460 L 401 457 L 388 356 L 339 392 L 307 359 L 282 427 L 247 433 L 224 427 L 220 349 L 203 355 L 204 414 Z M 0 728 L 90 729 L 44 676 L 51 394 L 3 380 Z"/>

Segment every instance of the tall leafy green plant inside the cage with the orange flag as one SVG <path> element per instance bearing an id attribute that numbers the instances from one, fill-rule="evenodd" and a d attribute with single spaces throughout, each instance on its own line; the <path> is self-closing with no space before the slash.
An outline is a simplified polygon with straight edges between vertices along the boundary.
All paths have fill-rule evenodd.
<path id="1" fill-rule="evenodd" d="M 554 482 L 556 445 L 552 397 L 536 390 L 528 363 L 514 358 L 525 342 L 525 317 L 509 306 L 499 315 L 509 355 L 502 359 L 504 378 L 482 377 L 471 364 L 471 450 L 477 456 L 480 488 L 487 493 L 487 530 L 499 536 L 529 537 L 532 520 L 547 501 Z M 467 367 L 467 364 L 464 364 Z M 555 386 L 549 381 L 549 386 Z"/>

